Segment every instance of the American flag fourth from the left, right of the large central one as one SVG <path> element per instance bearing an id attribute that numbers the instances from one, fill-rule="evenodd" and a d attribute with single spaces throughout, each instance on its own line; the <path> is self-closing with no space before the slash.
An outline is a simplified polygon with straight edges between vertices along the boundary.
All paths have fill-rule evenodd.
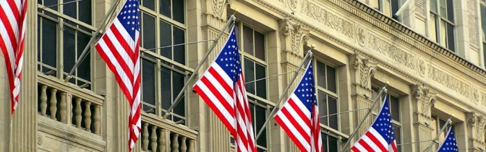
<path id="1" fill-rule="evenodd" d="M 301 151 L 321 152 L 324 150 L 312 69 L 310 60 L 299 85 L 274 118 Z"/>

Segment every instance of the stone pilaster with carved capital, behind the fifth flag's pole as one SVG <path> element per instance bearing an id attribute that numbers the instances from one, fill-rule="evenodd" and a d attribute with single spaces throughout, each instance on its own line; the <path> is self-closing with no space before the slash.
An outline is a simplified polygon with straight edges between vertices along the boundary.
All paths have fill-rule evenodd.
<path id="1" fill-rule="evenodd" d="M 355 53 L 349 57 L 350 61 L 350 73 L 351 73 L 351 101 L 352 104 L 346 108 L 342 108 L 342 110 L 355 110 L 355 109 L 362 109 L 362 108 L 369 108 L 373 103 L 374 98 L 371 96 L 371 78 L 376 73 L 376 62 L 365 58 L 364 56 L 360 55 L 359 53 Z M 379 107 L 380 104 L 376 103 L 374 109 Z M 346 135 L 351 135 L 353 130 L 358 126 L 358 123 L 362 121 L 362 119 L 366 119 L 362 126 L 358 129 L 358 132 L 355 133 L 355 137 L 353 137 L 351 144 L 357 140 L 360 135 L 362 135 L 368 128 L 371 126 L 373 119 L 371 115 L 368 117 L 364 117 L 368 110 L 358 110 L 354 112 L 357 115 L 351 115 L 352 113 L 344 113 L 342 117 L 349 117 L 349 119 L 341 119 L 341 127 L 343 133 Z M 343 145 L 344 146 L 344 145 Z"/>

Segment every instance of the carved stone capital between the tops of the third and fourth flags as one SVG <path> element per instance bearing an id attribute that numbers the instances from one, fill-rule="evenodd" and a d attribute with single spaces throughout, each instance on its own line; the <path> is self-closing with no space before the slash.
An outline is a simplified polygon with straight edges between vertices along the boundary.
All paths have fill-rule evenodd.
<path id="1" fill-rule="evenodd" d="M 285 51 L 291 51 L 296 54 L 301 53 L 303 43 L 309 40 L 309 30 L 299 24 L 292 24 L 288 17 L 280 21 L 280 32 L 284 35 L 283 44 Z M 290 44 L 288 40 L 290 39 Z"/>

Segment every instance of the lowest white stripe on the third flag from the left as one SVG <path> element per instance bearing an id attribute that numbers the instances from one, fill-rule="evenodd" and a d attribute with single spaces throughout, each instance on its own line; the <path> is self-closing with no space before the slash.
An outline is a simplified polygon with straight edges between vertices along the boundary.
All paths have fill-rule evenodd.
<path id="1" fill-rule="evenodd" d="M 206 96 L 208 96 L 208 99 L 210 99 L 210 102 L 215 105 L 215 107 L 219 110 L 219 112 L 221 112 L 221 114 L 224 116 L 226 121 L 228 121 L 233 128 L 236 128 L 235 127 L 235 119 L 233 118 L 233 115 L 231 115 L 228 112 L 228 110 L 226 110 L 226 108 L 224 108 L 224 106 L 221 105 L 219 100 L 216 98 L 216 96 L 214 94 L 212 94 L 212 92 L 210 92 L 210 90 L 208 89 L 208 87 L 206 87 L 206 85 L 203 83 L 203 81 L 197 81 L 196 85 L 199 88 L 201 88 L 201 90 L 203 91 L 202 92 L 203 94 L 206 94 Z"/>

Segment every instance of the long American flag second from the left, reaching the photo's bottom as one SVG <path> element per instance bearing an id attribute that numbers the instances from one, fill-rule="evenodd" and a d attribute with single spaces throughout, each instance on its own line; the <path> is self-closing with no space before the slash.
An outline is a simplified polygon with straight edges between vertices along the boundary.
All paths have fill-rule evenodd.
<path id="1" fill-rule="evenodd" d="M 128 117 L 131 151 L 140 135 L 140 10 L 138 0 L 127 0 L 96 44 L 99 55 L 115 74 L 130 104 Z"/>

